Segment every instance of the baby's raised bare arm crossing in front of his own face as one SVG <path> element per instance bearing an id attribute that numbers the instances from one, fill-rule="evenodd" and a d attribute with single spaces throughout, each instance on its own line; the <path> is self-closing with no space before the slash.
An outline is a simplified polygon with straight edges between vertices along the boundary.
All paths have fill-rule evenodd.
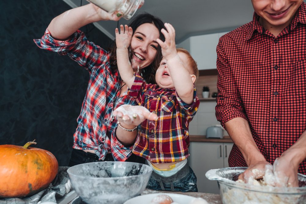
<path id="1" fill-rule="evenodd" d="M 162 48 L 162 56 L 167 60 L 167 65 L 170 71 L 174 87 L 179 97 L 187 104 L 191 104 L 193 101 L 193 82 L 183 61 L 179 57 L 176 51 L 175 45 L 175 30 L 169 23 L 165 23 L 165 29 L 161 32 L 165 36 L 165 42 L 160 39 L 156 39 Z"/>

